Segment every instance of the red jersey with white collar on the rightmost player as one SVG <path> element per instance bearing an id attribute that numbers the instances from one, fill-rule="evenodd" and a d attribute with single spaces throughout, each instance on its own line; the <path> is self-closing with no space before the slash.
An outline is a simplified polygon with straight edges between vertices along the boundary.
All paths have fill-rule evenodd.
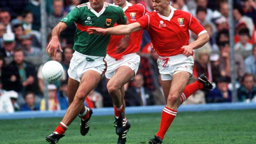
<path id="1" fill-rule="evenodd" d="M 171 7 L 171 6 L 170 6 Z M 197 35 L 206 33 L 204 27 L 192 14 L 171 7 L 169 17 L 155 11 L 137 21 L 149 32 L 151 42 L 158 55 L 169 57 L 183 53 L 182 46 L 188 45 L 191 30 Z"/>

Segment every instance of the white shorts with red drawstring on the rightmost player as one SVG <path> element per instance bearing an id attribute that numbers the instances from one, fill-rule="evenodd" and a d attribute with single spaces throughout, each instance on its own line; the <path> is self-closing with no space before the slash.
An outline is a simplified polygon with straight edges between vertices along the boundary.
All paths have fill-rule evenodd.
<path id="1" fill-rule="evenodd" d="M 166 63 L 166 61 L 161 58 L 169 58 L 169 60 Z M 192 56 L 186 57 L 182 54 L 170 57 L 159 56 L 157 63 L 162 80 L 172 80 L 174 73 L 178 71 L 187 71 L 190 73 L 190 76 L 193 75 L 194 60 Z"/>

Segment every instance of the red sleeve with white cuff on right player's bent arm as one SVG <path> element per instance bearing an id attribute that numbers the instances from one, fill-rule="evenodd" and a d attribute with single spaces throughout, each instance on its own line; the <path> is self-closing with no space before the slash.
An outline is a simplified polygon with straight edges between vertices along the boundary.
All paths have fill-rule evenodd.
<path id="1" fill-rule="evenodd" d="M 192 16 L 192 14 L 190 14 L 190 23 L 188 28 L 198 36 L 207 32 L 197 19 Z"/>

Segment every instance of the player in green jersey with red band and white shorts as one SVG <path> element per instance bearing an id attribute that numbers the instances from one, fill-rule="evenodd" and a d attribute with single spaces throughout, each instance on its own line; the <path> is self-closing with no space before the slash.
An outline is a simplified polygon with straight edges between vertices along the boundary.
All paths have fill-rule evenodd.
<path id="1" fill-rule="evenodd" d="M 81 117 L 80 133 L 86 135 L 89 131 L 89 119 L 92 109 L 85 107 L 84 101 L 89 92 L 96 87 L 104 75 L 107 65 L 104 61 L 110 36 L 88 34 L 90 27 L 107 28 L 115 23 L 126 24 L 126 16 L 121 7 L 104 2 L 104 0 L 89 0 L 78 5 L 53 28 L 52 39 L 46 48 L 50 56 L 55 56 L 57 49 L 62 51 L 59 34 L 69 25 L 76 23 L 73 57 L 69 65 L 68 97 L 69 108 L 54 133 L 46 137 L 46 141 L 56 144 L 64 137 L 71 122 L 79 115 Z M 126 47 L 119 46 L 121 53 Z"/>

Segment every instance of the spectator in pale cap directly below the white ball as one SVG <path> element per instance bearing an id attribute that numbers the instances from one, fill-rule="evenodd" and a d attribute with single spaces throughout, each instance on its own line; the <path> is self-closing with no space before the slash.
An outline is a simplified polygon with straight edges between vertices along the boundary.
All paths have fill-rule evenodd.
<path id="1" fill-rule="evenodd" d="M 60 105 L 57 99 L 57 87 L 53 84 L 47 86 L 48 89 L 48 110 L 60 110 Z M 43 98 L 40 105 L 40 110 L 46 110 L 46 100 Z"/>

